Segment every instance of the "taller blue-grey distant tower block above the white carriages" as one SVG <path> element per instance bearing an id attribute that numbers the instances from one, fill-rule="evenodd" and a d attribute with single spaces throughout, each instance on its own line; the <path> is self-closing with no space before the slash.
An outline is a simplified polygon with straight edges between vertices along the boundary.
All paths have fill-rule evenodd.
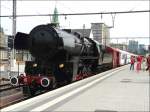
<path id="1" fill-rule="evenodd" d="M 138 41 L 129 40 L 128 51 L 132 53 L 138 53 Z"/>

